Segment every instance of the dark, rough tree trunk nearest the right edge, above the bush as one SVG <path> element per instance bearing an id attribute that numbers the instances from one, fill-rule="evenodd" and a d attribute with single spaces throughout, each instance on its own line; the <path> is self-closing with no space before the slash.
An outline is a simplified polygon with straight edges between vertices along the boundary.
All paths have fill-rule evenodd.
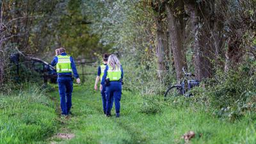
<path id="1" fill-rule="evenodd" d="M 241 14 L 244 13 L 244 6 L 249 4 L 246 1 L 239 1 L 239 5 L 237 6 L 228 6 L 228 10 L 225 13 L 226 25 L 229 31 L 227 31 L 226 35 L 228 36 L 227 40 L 227 51 L 225 53 L 226 61 L 225 61 L 225 72 L 229 69 L 236 70 L 239 66 L 239 63 L 243 60 L 243 56 L 246 53 L 244 50 L 243 36 L 245 33 L 248 33 L 248 29 L 250 29 L 250 20 L 246 17 L 246 15 Z M 234 2 L 228 3 L 230 5 L 235 4 Z"/>

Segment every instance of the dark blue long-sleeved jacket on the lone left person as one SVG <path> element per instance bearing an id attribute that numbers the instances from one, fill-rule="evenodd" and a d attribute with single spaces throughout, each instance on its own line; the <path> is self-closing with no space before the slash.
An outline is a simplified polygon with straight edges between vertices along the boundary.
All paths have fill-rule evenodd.
<path id="1" fill-rule="evenodd" d="M 66 53 L 61 53 L 61 56 L 67 56 Z M 72 67 L 72 72 L 74 74 L 74 77 L 79 78 L 79 75 L 77 74 L 77 70 L 76 70 L 76 65 L 75 65 L 75 61 L 73 60 L 72 56 L 70 56 L 70 61 L 71 61 L 71 67 Z M 58 63 L 58 57 L 54 56 L 51 65 L 54 67 L 56 64 Z M 63 72 L 63 73 L 58 73 L 58 76 L 72 76 L 72 72 Z"/>

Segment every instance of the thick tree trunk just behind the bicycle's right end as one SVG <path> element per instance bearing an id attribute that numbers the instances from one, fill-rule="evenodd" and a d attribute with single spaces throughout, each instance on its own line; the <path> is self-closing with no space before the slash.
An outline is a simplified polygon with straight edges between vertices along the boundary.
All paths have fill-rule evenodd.
<path id="1" fill-rule="evenodd" d="M 194 33 L 194 60 L 196 79 L 201 81 L 212 76 L 212 63 L 214 60 L 214 46 L 211 31 L 214 28 L 214 0 L 197 3 L 185 1 L 188 14 L 193 22 Z"/>

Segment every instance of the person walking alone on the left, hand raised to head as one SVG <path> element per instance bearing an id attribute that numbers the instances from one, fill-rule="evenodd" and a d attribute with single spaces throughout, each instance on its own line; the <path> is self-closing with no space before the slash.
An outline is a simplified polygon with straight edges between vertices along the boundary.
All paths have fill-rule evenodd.
<path id="1" fill-rule="evenodd" d="M 58 86 L 60 93 L 60 107 L 61 115 L 67 116 L 70 114 L 70 109 L 72 106 L 72 92 L 73 92 L 73 79 L 72 72 L 74 77 L 76 77 L 76 82 L 79 84 L 80 79 L 77 74 L 75 61 L 72 56 L 67 55 L 66 50 L 61 47 L 56 49 L 56 56 L 54 56 L 51 65 L 56 65 L 56 70 L 58 74 Z"/>

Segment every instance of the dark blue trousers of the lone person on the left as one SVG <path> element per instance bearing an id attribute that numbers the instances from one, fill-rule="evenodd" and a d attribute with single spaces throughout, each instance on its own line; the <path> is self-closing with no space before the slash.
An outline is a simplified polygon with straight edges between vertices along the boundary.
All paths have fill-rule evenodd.
<path id="1" fill-rule="evenodd" d="M 72 106 L 73 80 L 72 77 L 58 77 L 61 114 L 68 115 Z"/>

